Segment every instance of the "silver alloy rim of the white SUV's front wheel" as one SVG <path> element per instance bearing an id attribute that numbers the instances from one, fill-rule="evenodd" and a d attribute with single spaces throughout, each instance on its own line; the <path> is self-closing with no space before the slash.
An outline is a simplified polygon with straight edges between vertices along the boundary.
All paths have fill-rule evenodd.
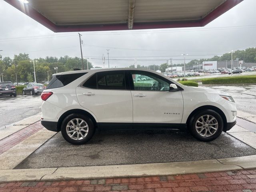
<path id="1" fill-rule="evenodd" d="M 218 130 L 218 121 L 214 116 L 203 115 L 196 121 L 196 132 L 203 137 L 210 137 Z"/>

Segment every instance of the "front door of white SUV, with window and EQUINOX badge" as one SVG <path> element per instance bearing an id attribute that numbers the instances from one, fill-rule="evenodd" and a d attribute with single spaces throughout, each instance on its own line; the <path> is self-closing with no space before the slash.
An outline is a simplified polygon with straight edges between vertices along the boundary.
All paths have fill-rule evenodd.
<path id="1" fill-rule="evenodd" d="M 146 80 L 137 82 L 138 76 Z M 180 89 L 169 91 L 171 81 L 151 72 L 131 70 L 133 122 L 180 124 L 183 98 Z"/>

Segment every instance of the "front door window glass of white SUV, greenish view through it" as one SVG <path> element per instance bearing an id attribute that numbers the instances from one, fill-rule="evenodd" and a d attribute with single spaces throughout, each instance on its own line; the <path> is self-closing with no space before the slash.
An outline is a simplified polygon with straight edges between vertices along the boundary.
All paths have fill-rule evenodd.
<path id="1" fill-rule="evenodd" d="M 157 75 L 147 72 L 132 72 L 134 90 L 169 91 L 170 84 Z"/>

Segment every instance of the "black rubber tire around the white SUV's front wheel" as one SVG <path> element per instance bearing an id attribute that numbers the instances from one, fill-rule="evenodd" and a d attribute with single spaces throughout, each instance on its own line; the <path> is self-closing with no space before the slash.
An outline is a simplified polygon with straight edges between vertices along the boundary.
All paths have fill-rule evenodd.
<path id="1" fill-rule="evenodd" d="M 218 128 L 216 130 L 216 132 L 212 135 L 212 136 L 202 136 L 200 135 L 197 131 L 196 131 L 196 122 L 197 120 L 204 115 L 210 115 L 212 117 L 214 117 L 218 123 Z M 208 125 L 207 125 L 208 126 Z M 189 130 L 192 134 L 192 136 L 194 136 L 196 139 L 200 140 L 200 141 L 212 141 L 216 138 L 218 138 L 220 136 L 220 134 L 223 131 L 223 126 L 224 126 L 224 122 L 222 120 L 222 117 L 220 116 L 220 114 L 218 114 L 218 112 L 214 111 L 214 110 L 202 110 L 198 113 L 196 113 L 190 120 L 190 124 L 189 124 Z M 207 128 L 206 128 L 207 129 Z M 210 132 L 210 129 L 208 128 L 208 132 Z M 205 133 L 205 132 L 204 132 Z M 212 132 L 211 132 L 212 133 Z"/>

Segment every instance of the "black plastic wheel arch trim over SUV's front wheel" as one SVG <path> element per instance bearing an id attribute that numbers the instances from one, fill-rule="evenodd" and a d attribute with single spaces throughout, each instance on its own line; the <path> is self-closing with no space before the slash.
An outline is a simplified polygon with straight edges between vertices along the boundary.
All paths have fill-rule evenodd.
<path id="1" fill-rule="evenodd" d="M 227 129 L 227 118 L 226 118 L 226 115 L 224 114 L 224 112 L 220 108 L 218 108 L 216 106 L 212 106 L 212 105 L 200 106 L 200 107 L 196 108 L 194 111 L 192 111 L 190 113 L 190 115 L 188 116 L 188 119 L 186 121 L 187 127 L 189 126 L 189 122 L 190 122 L 191 118 L 194 116 L 194 114 L 196 114 L 197 112 L 199 112 L 201 110 L 206 110 L 206 109 L 214 110 L 214 111 L 218 112 L 218 114 L 220 114 L 220 116 L 223 119 L 223 123 L 224 123 L 223 131 L 226 132 L 226 129 Z"/>

